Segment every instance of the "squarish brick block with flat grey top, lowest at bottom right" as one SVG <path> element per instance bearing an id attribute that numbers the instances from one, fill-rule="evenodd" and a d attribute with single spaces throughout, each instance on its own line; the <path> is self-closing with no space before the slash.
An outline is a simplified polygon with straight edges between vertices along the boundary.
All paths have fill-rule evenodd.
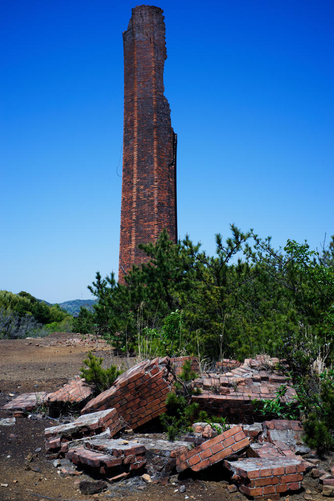
<path id="1" fill-rule="evenodd" d="M 302 461 L 287 457 L 225 460 L 224 466 L 233 473 L 239 490 L 258 501 L 268 497 L 275 501 L 281 492 L 300 489 L 305 470 Z"/>

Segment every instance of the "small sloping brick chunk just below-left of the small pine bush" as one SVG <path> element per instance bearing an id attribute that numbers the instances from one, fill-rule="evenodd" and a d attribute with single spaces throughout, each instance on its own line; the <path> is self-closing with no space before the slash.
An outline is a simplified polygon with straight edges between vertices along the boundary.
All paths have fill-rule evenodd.
<path id="1" fill-rule="evenodd" d="M 78 405 L 89 400 L 93 395 L 92 387 L 84 379 L 77 376 L 59 390 L 49 393 L 48 405 L 62 406 L 66 404 Z"/>

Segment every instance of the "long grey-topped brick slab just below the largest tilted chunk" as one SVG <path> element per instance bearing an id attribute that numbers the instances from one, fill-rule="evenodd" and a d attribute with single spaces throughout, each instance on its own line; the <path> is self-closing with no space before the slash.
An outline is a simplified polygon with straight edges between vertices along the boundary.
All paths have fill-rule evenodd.
<path id="1" fill-rule="evenodd" d="M 106 430 L 109 430 L 109 436 L 114 436 L 121 427 L 116 410 L 108 409 L 86 414 L 71 423 L 46 428 L 44 431 L 46 456 L 49 459 L 62 457 L 68 452 L 73 440 L 98 435 Z"/>

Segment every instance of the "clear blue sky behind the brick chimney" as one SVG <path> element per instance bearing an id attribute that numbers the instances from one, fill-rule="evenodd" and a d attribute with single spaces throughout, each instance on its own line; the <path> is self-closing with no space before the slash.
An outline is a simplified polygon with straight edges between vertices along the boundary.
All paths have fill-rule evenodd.
<path id="1" fill-rule="evenodd" d="M 0 289 L 87 299 L 118 269 L 125 0 L 0 11 Z M 334 233 L 332 0 L 162 1 L 178 231 Z"/>

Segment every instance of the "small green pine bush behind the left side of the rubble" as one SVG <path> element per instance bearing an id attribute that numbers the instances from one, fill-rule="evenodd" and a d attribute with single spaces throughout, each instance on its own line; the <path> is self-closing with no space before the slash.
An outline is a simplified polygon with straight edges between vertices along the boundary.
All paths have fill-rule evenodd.
<path id="1" fill-rule="evenodd" d="M 88 384 L 92 384 L 98 392 L 110 388 L 115 379 L 123 372 L 117 369 L 116 365 L 111 365 L 105 369 L 102 367 L 102 362 L 102 357 L 96 357 L 90 351 L 87 358 L 83 360 L 88 368 L 81 367 L 80 369 L 81 377 L 85 378 Z"/>

